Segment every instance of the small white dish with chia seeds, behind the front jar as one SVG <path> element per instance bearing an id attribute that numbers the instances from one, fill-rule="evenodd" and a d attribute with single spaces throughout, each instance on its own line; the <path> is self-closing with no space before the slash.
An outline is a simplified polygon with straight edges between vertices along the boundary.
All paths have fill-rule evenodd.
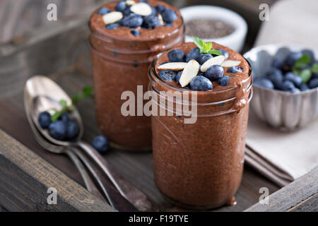
<path id="1" fill-rule="evenodd" d="M 242 50 L 247 23 L 237 13 L 218 6 L 189 6 L 181 8 L 180 13 L 186 26 L 185 42 L 193 42 L 196 36 L 237 52 Z"/>

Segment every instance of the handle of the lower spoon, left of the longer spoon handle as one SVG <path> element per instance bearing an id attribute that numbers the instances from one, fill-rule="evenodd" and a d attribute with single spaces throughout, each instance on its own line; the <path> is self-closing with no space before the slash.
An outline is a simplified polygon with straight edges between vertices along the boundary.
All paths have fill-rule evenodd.
<path id="1" fill-rule="evenodd" d="M 74 154 L 75 152 L 73 151 L 73 148 L 72 150 L 69 150 L 69 149 L 66 150 L 65 153 L 66 155 L 69 156 L 69 158 L 72 160 L 72 162 L 78 169 L 78 172 L 81 174 L 81 177 L 83 178 L 84 184 L 86 188 L 88 189 L 88 191 L 95 194 L 95 196 L 103 198 L 102 194 L 100 194 L 100 191 L 98 191 L 98 188 L 95 186 L 93 180 L 90 178 L 90 175 L 88 174 L 85 167 L 83 166 L 83 163 L 81 162 L 81 160 L 78 159 L 78 156 Z"/>

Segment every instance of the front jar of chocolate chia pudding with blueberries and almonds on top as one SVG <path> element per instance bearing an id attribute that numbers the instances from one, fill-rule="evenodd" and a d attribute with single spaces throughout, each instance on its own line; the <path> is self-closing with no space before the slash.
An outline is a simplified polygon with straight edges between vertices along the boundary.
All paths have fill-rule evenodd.
<path id="1" fill-rule="evenodd" d="M 174 49 L 160 54 L 149 70 L 151 83 L 148 89 L 157 95 L 153 101 L 160 109 L 171 111 L 167 109 L 167 98 L 157 101 L 159 97 L 165 98 L 160 91 L 189 93 L 189 100 L 194 94 L 197 97 L 197 119 L 194 124 L 184 124 L 184 119 L 188 117 L 185 112 L 152 117 L 155 184 L 179 206 L 216 208 L 233 203 L 233 196 L 242 179 L 252 74 L 244 57 L 214 42 L 213 49 L 220 49 L 224 57 L 220 56 L 219 59 L 223 61 L 204 70 L 204 64 L 218 56 L 211 55 L 208 60 L 202 60 L 199 51 L 194 54 L 194 48 L 194 43 L 175 48 L 182 50 L 186 58 L 182 57 L 181 52 L 172 52 Z M 174 71 L 175 76 L 170 76 L 172 69 L 158 69 L 165 65 L 163 63 L 177 61 L 178 58 L 203 63 L 199 73 L 188 85 L 184 83 L 183 88 L 180 83 L 187 66 L 184 71 Z M 181 77 L 177 76 L 179 72 Z M 180 101 L 173 99 L 175 104 Z M 194 107 L 193 103 L 182 102 L 182 105 L 186 104 Z"/>

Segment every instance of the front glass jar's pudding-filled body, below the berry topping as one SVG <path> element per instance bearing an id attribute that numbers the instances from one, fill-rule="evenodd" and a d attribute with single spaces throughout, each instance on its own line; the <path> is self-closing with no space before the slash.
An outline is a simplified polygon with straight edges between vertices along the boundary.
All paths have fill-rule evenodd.
<path id="1" fill-rule="evenodd" d="M 160 79 L 155 71 L 157 60 L 158 57 L 148 71 L 148 90 L 153 91 L 153 103 L 161 111 L 157 115 L 163 115 L 152 116 L 155 184 L 178 206 L 222 206 L 233 200 L 242 179 L 252 98 L 251 69 L 248 78 L 234 88 L 192 91 Z M 169 98 L 162 91 L 189 96 Z M 196 97 L 196 102 L 192 102 L 192 97 Z M 184 124 L 193 109 L 197 112 L 196 122 Z"/>

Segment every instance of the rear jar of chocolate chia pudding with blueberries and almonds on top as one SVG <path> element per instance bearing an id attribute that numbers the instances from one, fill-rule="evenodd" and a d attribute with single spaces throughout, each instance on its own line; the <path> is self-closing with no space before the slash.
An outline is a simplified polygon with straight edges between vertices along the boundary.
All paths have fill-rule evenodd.
<path id="1" fill-rule="evenodd" d="M 126 100 L 121 97 L 124 91 L 136 95 L 137 85 L 143 85 L 145 92 L 153 58 L 184 42 L 179 11 L 163 1 L 112 2 L 93 13 L 90 31 L 100 130 L 121 148 L 151 148 L 151 118 L 137 116 L 137 112 L 123 116 L 121 107 Z"/>

